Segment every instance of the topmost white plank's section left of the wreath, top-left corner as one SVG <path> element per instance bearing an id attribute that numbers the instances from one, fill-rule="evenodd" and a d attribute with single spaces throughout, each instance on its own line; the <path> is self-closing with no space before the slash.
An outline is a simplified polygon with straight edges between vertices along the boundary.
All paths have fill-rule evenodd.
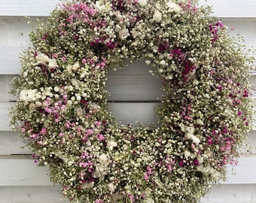
<path id="1" fill-rule="evenodd" d="M 59 0 L 1 0 L 0 16 L 44 17 L 59 4 Z"/>

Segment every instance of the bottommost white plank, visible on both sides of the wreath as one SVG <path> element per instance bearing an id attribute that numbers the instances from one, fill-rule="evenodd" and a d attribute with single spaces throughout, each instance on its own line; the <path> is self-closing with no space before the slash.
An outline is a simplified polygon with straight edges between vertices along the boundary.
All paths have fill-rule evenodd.
<path id="1" fill-rule="evenodd" d="M 0 186 L 0 203 L 68 203 L 59 186 Z M 200 203 L 254 203 L 256 184 L 214 185 Z"/>

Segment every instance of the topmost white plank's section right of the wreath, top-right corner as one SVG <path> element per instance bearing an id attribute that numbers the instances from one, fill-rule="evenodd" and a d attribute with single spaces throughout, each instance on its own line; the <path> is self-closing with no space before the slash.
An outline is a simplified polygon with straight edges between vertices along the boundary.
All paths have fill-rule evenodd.
<path id="1" fill-rule="evenodd" d="M 200 5 L 211 5 L 218 17 L 256 17 L 254 0 L 200 0 Z"/>

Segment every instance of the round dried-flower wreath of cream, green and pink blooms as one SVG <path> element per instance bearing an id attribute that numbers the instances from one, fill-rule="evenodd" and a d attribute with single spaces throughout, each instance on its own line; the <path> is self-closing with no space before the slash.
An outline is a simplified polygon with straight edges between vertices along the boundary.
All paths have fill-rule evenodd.
<path id="1" fill-rule="evenodd" d="M 73 202 L 197 202 L 224 180 L 252 126 L 254 68 L 197 1 L 59 5 L 21 55 L 11 123 Z M 108 71 L 130 62 L 162 78 L 158 126 L 123 126 Z"/>

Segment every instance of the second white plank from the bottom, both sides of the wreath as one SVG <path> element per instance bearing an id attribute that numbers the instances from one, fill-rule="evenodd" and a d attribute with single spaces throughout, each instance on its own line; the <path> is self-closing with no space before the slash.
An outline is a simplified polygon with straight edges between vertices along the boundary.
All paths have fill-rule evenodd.
<path id="1" fill-rule="evenodd" d="M 52 186 L 48 171 L 46 167 L 37 167 L 32 159 L 0 159 L 0 186 Z M 223 184 L 255 184 L 255 171 L 256 157 L 241 157 L 233 171 L 228 167 Z"/>

